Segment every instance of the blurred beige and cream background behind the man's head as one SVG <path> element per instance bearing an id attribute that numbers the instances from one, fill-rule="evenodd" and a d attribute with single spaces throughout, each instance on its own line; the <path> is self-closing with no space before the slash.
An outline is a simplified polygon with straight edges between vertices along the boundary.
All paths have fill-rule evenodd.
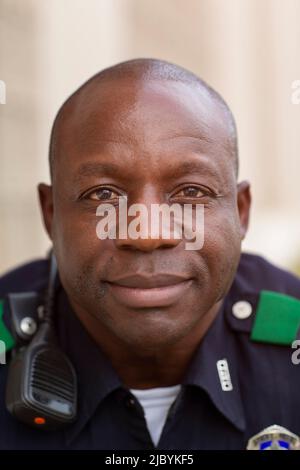
<path id="1" fill-rule="evenodd" d="M 0 0 L 0 273 L 50 246 L 36 185 L 58 107 L 134 57 L 183 65 L 224 96 L 252 182 L 244 249 L 300 272 L 300 0 Z"/>

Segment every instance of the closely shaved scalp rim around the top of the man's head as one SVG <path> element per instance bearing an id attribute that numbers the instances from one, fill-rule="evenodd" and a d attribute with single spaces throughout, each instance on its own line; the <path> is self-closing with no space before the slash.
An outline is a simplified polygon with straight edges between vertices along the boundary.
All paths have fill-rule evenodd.
<path id="1" fill-rule="evenodd" d="M 102 70 L 77 89 L 59 109 L 51 132 L 49 147 L 49 163 L 51 177 L 59 154 L 59 135 L 63 132 L 64 124 L 72 116 L 72 113 L 84 101 L 91 102 L 95 94 L 101 92 L 101 87 L 106 83 L 118 81 L 130 81 L 133 86 L 145 82 L 178 82 L 191 88 L 195 93 L 195 99 L 210 100 L 220 111 L 223 124 L 226 127 L 226 137 L 223 145 L 228 157 L 233 159 L 236 174 L 238 173 L 238 144 L 234 117 L 223 98 L 207 85 L 202 79 L 192 72 L 157 59 L 135 59 L 121 62 L 117 65 Z"/>

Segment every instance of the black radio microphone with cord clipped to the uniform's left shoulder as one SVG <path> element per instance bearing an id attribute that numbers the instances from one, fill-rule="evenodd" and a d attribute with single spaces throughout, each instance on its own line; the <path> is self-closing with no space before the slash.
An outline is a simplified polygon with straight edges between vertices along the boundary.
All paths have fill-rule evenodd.
<path id="1" fill-rule="evenodd" d="M 30 343 L 23 342 L 13 352 L 6 387 L 8 411 L 19 421 L 45 430 L 71 423 L 77 411 L 75 370 L 60 349 L 54 329 L 56 276 L 56 259 L 52 253 L 43 319 Z M 13 308 L 18 309 L 14 317 L 22 317 L 22 294 L 18 294 L 17 302 L 11 302 Z"/>

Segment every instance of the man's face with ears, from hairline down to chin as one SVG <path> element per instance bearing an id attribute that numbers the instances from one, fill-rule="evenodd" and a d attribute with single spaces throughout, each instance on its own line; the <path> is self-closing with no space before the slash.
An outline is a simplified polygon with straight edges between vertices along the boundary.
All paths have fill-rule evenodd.
<path id="1" fill-rule="evenodd" d="M 249 213 L 237 186 L 224 111 L 177 82 L 90 85 L 62 119 L 42 210 L 75 311 L 134 347 L 188 337 L 228 291 Z M 204 245 L 96 235 L 99 204 L 204 206 Z M 118 210 L 118 209 L 117 209 Z M 194 210 L 194 209 L 193 209 Z M 96 319 L 96 321 L 95 321 Z"/>

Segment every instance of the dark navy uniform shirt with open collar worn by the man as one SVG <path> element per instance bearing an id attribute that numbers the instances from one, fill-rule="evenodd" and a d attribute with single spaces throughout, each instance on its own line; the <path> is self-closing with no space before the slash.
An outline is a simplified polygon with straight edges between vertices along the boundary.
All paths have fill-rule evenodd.
<path id="1" fill-rule="evenodd" d="M 45 289 L 46 260 L 0 279 L 0 299 L 9 292 Z M 250 437 L 278 424 L 300 434 L 300 365 L 289 346 L 250 339 L 260 292 L 300 298 L 300 281 L 260 257 L 243 254 L 234 283 L 196 351 L 172 405 L 157 448 L 245 449 Z M 234 315 L 237 302 L 251 315 Z M 72 312 L 62 288 L 55 311 L 61 347 L 78 376 L 75 423 L 61 431 L 30 428 L 5 408 L 8 365 L 0 365 L 0 449 L 154 449 L 141 405 Z M 7 310 L 5 322 L 9 327 Z M 243 315 L 242 315 L 243 316 Z M 232 387 L 223 390 L 217 362 L 227 360 Z"/>

